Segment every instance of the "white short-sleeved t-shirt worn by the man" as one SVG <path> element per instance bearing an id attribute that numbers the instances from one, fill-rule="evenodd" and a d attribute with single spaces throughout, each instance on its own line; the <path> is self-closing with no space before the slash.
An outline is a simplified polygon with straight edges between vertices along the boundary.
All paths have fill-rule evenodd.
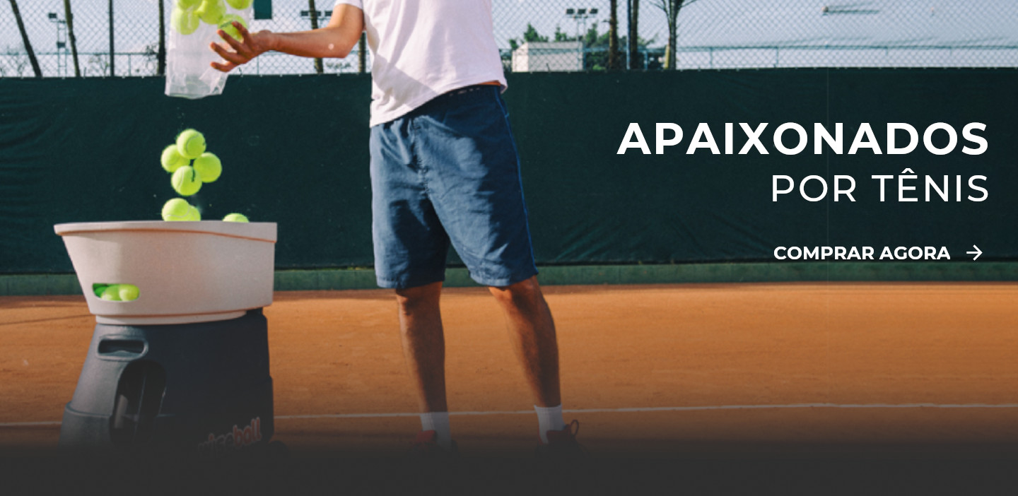
<path id="1" fill-rule="evenodd" d="M 491 0 L 338 0 L 364 12 L 372 52 L 371 125 L 458 87 L 499 81 Z"/>

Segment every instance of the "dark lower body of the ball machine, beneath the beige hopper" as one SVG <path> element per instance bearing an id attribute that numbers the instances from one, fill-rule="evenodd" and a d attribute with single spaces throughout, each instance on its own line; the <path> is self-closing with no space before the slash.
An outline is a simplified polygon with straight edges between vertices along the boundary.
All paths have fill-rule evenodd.
<path id="1" fill-rule="evenodd" d="M 67 448 L 218 452 L 274 432 L 262 309 L 216 322 L 97 324 L 64 409 Z"/>

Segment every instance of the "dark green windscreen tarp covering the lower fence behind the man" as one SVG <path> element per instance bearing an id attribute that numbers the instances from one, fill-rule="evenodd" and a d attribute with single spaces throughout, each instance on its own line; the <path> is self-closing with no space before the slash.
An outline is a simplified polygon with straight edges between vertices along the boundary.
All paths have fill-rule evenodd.
<path id="1" fill-rule="evenodd" d="M 775 69 L 512 74 L 505 94 L 539 263 L 773 260 L 776 246 L 946 246 L 954 260 L 1018 257 L 1018 70 Z M 231 211 L 279 224 L 278 268 L 372 265 L 366 76 L 232 77 L 224 95 L 163 96 L 159 78 L 0 79 L 0 273 L 71 270 L 53 225 L 158 220 L 175 196 L 159 154 L 205 132 L 222 178 L 192 197 L 205 219 Z M 665 154 L 616 151 L 629 123 L 654 150 L 655 123 L 680 125 Z M 686 154 L 697 124 L 767 122 L 759 154 Z M 986 151 L 935 156 L 777 152 L 785 122 L 860 123 L 882 146 L 888 122 L 921 133 L 970 122 Z M 735 125 L 735 149 L 745 141 Z M 789 133 L 786 144 L 792 144 Z M 938 145 L 943 145 L 940 136 Z M 961 138 L 961 136 L 959 136 Z M 921 137 L 920 137 L 921 139 Z M 964 140 L 962 145 L 971 144 Z M 920 201 L 881 202 L 871 175 L 919 176 Z M 856 180 L 855 202 L 771 199 L 772 176 Z M 986 176 L 985 201 L 922 201 L 925 175 Z M 954 183 L 952 182 L 952 188 Z M 815 186 L 815 184 L 813 185 Z M 895 188 L 891 188 L 895 186 Z M 815 188 L 807 190 L 815 194 Z M 980 193 L 966 189 L 966 194 Z M 952 199 L 953 191 L 952 191 Z M 894 201 L 891 201 L 894 199 Z M 455 257 L 453 257 L 455 259 Z"/>

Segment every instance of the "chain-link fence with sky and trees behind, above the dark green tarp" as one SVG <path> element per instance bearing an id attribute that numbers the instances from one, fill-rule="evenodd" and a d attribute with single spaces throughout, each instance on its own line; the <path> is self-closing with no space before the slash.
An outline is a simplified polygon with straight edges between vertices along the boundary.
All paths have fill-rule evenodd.
<path id="1" fill-rule="evenodd" d="M 175 1 L 0 0 L 0 76 L 33 76 L 34 65 L 46 77 L 155 75 L 160 10 L 169 25 Z M 333 0 L 256 0 L 263 15 L 271 5 L 271 18 L 253 20 L 251 28 L 308 29 L 312 3 L 319 23 L 327 22 Z M 492 3 L 509 71 L 1018 67 L 1015 0 Z M 356 52 L 322 64 L 327 73 L 359 69 Z M 266 54 L 239 70 L 302 74 L 317 67 L 309 59 Z"/>

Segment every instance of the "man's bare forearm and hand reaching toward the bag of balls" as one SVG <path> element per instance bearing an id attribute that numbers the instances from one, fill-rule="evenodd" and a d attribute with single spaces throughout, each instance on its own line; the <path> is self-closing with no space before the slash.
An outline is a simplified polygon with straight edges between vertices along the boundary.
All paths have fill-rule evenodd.
<path id="1" fill-rule="evenodd" d="M 213 43 L 211 46 L 225 61 L 213 62 L 212 66 L 223 72 L 229 72 L 269 51 L 299 57 L 346 57 L 364 30 L 364 16 L 359 8 L 341 4 L 333 10 L 329 24 L 319 29 L 299 33 L 262 30 L 251 34 L 237 22 L 233 25 L 241 36 L 239 42 L 220 29 L 219 37 L 225 43 Z"/>

